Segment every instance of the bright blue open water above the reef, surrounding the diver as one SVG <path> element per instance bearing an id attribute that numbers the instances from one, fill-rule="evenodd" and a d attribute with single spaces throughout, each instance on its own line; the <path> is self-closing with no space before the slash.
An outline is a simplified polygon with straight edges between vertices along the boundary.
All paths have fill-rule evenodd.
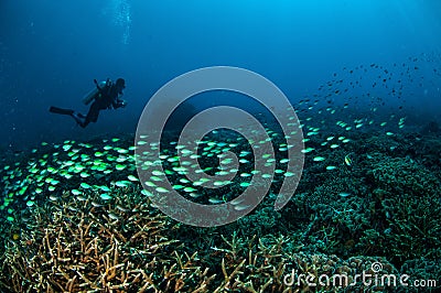
<path id="1" fill-rule="evenodd" d="M 204 66 L 255 70 L 294 102 L 343 67 L 430 53 L 428 73 L 440 68 L 440 42 L 438 0 L 2 0 L 0 146 L 135 132 L 155 90 Z M 86 112 L 80 99 L 93 79 L 120 76 L 129 106 L 101 112 L 98 123 L 80 129 L 47 112 Z M 438 83 L 426 95 L 416 87 L 408 104 L 435 117 Z"/>

